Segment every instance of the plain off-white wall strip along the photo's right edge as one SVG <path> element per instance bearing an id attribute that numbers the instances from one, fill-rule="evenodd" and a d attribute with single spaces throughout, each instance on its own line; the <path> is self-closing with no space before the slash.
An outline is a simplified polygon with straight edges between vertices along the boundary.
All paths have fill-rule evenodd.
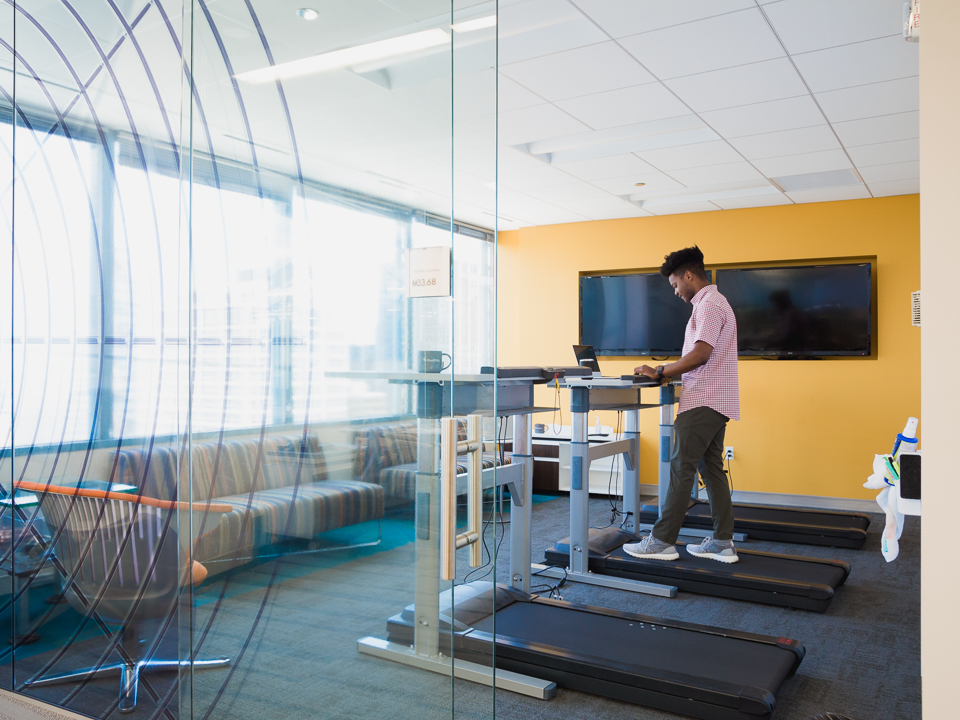
<path id="1" fill-rule="evenodd" d="M 924 0 L 921 23 L 923 717 L 940 720 L 960 717 L 960 463 L 954 452 L 960 432 L 960 2 Z"/>

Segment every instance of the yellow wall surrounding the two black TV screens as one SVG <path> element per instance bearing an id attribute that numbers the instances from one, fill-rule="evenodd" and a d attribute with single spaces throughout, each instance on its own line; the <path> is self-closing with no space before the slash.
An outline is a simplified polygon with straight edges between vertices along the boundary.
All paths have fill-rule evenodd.
<path id="1" fill-rule="evenodd" d="M 870 498 L 875 491 L 862 483 L 873 454 L 888 451 L 906 418 L 920 413 L 920 331 L 910 325 L 910 293 L 920 287 L 919 212 L 919 196 L 908 195 L 501 233 L 498 362 L 573 364 L 580 272 L 656 268 L 664 254 L 693 244 L 708 266 L 876 257 L 877 355 L 741 360 L 743 419 L 730 423 L 726 439 L 735 447 L 737 490 Z M 600 362 L 604 375 L 619 375 L 637 359 Z M 552 395 L 541 389 L 538 404 L 552 405 Z M 644 483 L 656 483 L 657 423 L 656 411 L 641 412 Z"/>

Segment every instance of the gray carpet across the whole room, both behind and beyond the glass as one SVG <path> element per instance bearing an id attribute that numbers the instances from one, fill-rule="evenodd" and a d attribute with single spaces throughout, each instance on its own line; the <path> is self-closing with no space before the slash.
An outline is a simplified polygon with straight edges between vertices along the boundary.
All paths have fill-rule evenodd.
<path id="1" fill-rule="evenodd" d="M 568 535 L 567 509 L 566 498 L 534 506 L 535 555 Z M 605 499 L 593 500 L 592 510 L 594 524 L 609 522 Z M 800 640 L 807 655 L 797 675 L 778 693 L 774 720 L 807 720 L 824 711 L 857 720 L 920 718 L 919 520 L 907 520 L 901 556 L 888 565 L 878 550 L 879 519 L 876 516 L 867 545 L 859 551 L 750 543 L 757 549 L 849 562 L 850 578 L 826 614 L 692 594 L 666 599 L 578 585 L 563 588 L 562 594 L 573 602 Z M 491 544 L 493 532 L 490 525 Z M 496 532 L 502 535 L 499 528 Z M 677 717 L 562 689 L 549 702 L 505 691 L 494 698 L 489 688 L 360 655 L 357 639 L 384 637 L 386 618 L 413 598 L 412 518 L 385 522 L 384 534 L 393 540 L 378 550 L 287 555 L 206 583 L 198 596 L 196 626 L 215 619 L 200 655 L 231 656 L 232 675 L 224 686 L 227 671 L 196 672 L 192 703 L 191 693 L 181 692 L 179 707 L 176 699 L 169 706 L 171 715 L 217 720 L 441 720 L 450 718 L 453 703 L 456 717 L 478 720 L 490 718 L 494 704 L 496 716 L 509 720 Z M 469 570 L 466 556 L 465 551 L 459 553 L 461 578 Z M 508 565 L 509 547 L 504 542 L 497 563 L 499 580 L 507 579 Z M 222 591 L 224 599 L 217 602 Z M 175 653 L 176 633 L 170 635 L 170 650 Z M 199 639 L 199 634 L 195 637 Z M 642 655 L 643 648 L 637 652 Z M 159 677 L 157 684 L 167 685 Z M 96 709 L 106 707 L 116 689 L 115 679 L 98 680 L 69 704 L 100 716 Z M 31 694 L 56 702 L 67 692 L 67 687 L 42 692 L 38 688 Z M 153 703 L 143 697 L 129 717 L 139 720 L 155 712 Z"/>

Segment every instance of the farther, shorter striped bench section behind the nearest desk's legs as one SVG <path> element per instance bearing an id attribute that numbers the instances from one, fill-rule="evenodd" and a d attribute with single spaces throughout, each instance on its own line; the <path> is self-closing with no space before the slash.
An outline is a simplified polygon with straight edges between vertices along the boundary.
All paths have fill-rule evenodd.
<path id="1" fill-rule="evenodd" d="M 466 438 L 467 424 L 457 419 L 457 439 Z M 354 443 L 357 453 L 353 476 L 382 487 L 387 507 L 413 502 L 417 482 L 416 423 L 367 425 L 357 430 Z M 506 463 L 510 462 L 509 455 L 504 459 Z M 499 464 L 496 453 L 483 453 L 485 470 Z M 457 472 L 466 471 L 466 458 L 458 458 Z"/>

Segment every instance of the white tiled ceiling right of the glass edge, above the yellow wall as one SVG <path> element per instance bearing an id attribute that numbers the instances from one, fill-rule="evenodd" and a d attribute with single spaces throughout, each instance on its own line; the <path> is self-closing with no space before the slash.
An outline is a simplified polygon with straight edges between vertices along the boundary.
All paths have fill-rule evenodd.
<path id="1" fill-rule="evenodd" d="M 501 168 L 518 225 L 920 191 L 919 48 L 903 38 L 900 0 L 501 2 L 501 32 L 531 4 L 576 12 L 603 37 L 500 66 L 514 92 L 541 98 L 522 115 L 501 113 L 501 154 L 564 173 L 538 185 Z M 633 147 L 598 137 L 630 125 Z M 674 144 L 691 128 L 704 134 Z M 651 138 L 664 146 L 645 145 Z M 537 152 L 544 140 L 564 150 Z M 593 156 L 563 162 L 573 147 Z M 831 173 L 845 169 L 855 172 Z M 770 180 L 790 187 L 807 174 L 810 189 L 794 192 Z M 830 187 L 838 177 L 845 184 Z M 522 196 L 553 209 L 527 210 Z"/>

